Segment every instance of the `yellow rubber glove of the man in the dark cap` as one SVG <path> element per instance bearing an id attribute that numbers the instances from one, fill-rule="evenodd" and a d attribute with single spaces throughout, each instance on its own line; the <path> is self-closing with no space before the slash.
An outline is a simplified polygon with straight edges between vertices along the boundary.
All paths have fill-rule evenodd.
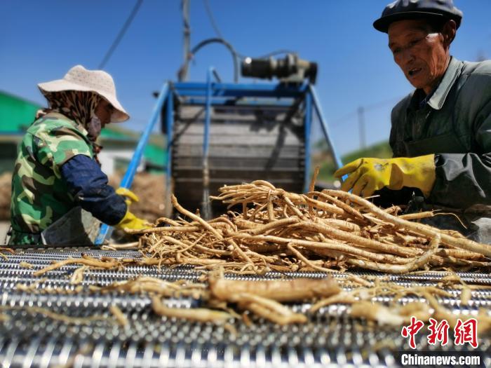
<path id="1" fill-rule="evenodd" d="M 428 197 L 435 184 L 435 155 L 412 158 L 358 158 L 334 173 L 335 177 L 349 174 L 341 189 L 364 197 L 384 188 L 399 190 L 403 186 L 419 188 Z"/>

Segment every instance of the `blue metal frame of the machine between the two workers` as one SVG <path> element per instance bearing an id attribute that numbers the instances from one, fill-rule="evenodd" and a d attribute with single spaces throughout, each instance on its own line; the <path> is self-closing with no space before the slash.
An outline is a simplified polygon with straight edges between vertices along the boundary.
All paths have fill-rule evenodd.
<path id="1" fill-rule="evenodd" d="M 213 79 L 215 76 L 215 79 Z M 336 168 L 342 167 L 342 162 L 335 146 L 332 143 L 329 135 L 328 124 L 325 121 L 321 105 L 317 97 L 314 86 L 310 83 L 302 83 L 301 85 L 285 84 L 285 83 L 222 83 L 213 67 L 208 69 L 206 83 L 191 83 L 178 82 L 164 83 L 157 97 L 152 116 L 145 128 L 140 141 L 138 142 L 135 154 L 133 155 L 128 170 L 126 171 L 121 187 L 130 188 L 133 183 L 136 169 L 142 159 L 144 147 L 147 145 L 150 134 L 154 129 L 155 124 L 159 121 L 163 104 L 166 104 L 166 130 L 167 130 L 167 157 L 166 165 L 166 191 L 170 190 L 170 177 L 172 176 L 172 142 L 173 142 L 173 106 L 174 98 L 186 98 L 187 104 L 201 105 L 206 108 L 205 111 L 205 129 L 203 137 L 203 164 L 206 163 L 209 148 L 209 132 L 210 132 L 210 116 L 211 107 L 220 106 L 227 103 L 227 99 L 233 98 L 261 98 L 262 104 L 271 104 L 272 106 L 292 106 L 299 100 L 304 102 L 304 129 L 305 129 L 305 175 L 304 175 L 304 191 L 308 190 L 309 175 L 310 175 L 310 131 L 312 125 L 313 112 L 315 111 L 318 121 L 321 123 L 325 141 L 328 143 L 330 154 L 334 158 Z M 271 99 L 271 100 L 265 100 Z M 245 100 L 243 104 L 257 104 L 254 100 Z M 314 108 L 314 111 L 312 111 Z M 167 192 L 167 196 L 170 193 Z M 110 236 L 112 228 L 107 224 L 103 224 L 100 229 L 99 236 L 95 240 L 96 245 L 102 245 L 105 239 Z"/>

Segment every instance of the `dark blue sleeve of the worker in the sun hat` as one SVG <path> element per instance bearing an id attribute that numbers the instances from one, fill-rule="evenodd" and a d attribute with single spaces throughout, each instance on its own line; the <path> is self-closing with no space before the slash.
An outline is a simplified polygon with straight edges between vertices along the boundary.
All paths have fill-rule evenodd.
<path id="1" fill-rule="evenodd" d="M 84 210 L 108 225 L 118 224 L 126 214 L 123 197 L 107 184 L 107 175 L 90 157 L 76 155 L 61 167 L 69 193 Z"/>

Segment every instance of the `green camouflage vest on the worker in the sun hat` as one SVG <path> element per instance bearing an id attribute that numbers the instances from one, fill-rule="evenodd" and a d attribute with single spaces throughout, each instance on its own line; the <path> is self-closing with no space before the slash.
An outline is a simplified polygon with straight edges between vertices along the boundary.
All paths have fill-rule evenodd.
<path id="1" fill-rule="evenodd" d="M 41 233 L 76 206 L 60 168 L 76 155 L 93 158 L 87 135 L 83 126 L 53 112 L 27 129 L 12 175 L 14 232 Z"/>

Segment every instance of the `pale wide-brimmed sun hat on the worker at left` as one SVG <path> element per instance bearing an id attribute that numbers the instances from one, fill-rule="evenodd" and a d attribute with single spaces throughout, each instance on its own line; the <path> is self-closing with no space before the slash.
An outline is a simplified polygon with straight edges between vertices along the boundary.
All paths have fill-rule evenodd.
<path id="1" fill-rule="evenodd" d="M 111 116 L 112 123 L 120 123 L 121 121 L 126 121 L 130 118 L 116 98 L 116 87 L 114 86 L 112 76 L 105 71 L 87 70 L 81 65 L 76 65 L 65 74 L 63 79 L 39 83 L 37 86 L 43 94 L 60 92 L 62 90 L 95 92 L 104 97 L 105 100 L 114 107 L 114 112 Z"/>

